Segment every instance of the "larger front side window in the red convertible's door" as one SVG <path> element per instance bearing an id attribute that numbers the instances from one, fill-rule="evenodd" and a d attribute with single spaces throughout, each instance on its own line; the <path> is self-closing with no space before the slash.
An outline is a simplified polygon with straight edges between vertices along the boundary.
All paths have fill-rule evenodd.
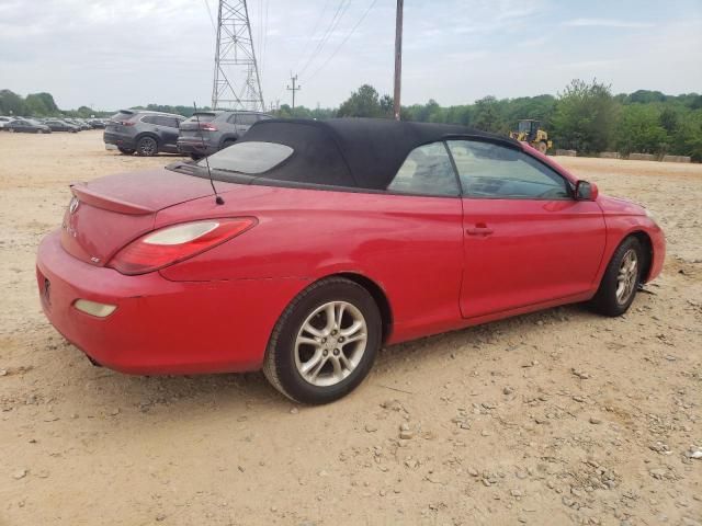
<path id="1" fill-rule="evenodd" d="M 498 199 L 569 199 L 568 182 L 522 151 L 491 142 L 450 140 L 464 195 Z"/>

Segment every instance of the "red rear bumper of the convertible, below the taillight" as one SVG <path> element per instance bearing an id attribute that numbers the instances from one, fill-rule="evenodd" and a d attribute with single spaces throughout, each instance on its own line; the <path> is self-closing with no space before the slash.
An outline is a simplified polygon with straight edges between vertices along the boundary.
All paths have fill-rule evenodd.
<path id="1" fill-rule="evenodd" d="M 36 275 L 52 324 L 95 362 L 129 374 L 259 369 L 275 321 L 304 286 L 275 279 L 172 282 L 158 272 L 125 276 L 69 255 L 59 232 L 42 241 Z M 116 309 L 97 318 L 78 310 L 78 299 Z"/>

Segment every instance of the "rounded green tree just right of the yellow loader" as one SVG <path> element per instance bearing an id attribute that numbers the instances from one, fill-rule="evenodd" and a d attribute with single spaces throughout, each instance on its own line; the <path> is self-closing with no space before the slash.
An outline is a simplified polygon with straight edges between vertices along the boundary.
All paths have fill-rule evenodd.
<path id="1" fill-rule="evenodd" d="M 619 104 L 609 85 L 576 79 L 558 94 L 553 137 L 562 148 L 604 151 L 613 142 L 618 116 Z"/>

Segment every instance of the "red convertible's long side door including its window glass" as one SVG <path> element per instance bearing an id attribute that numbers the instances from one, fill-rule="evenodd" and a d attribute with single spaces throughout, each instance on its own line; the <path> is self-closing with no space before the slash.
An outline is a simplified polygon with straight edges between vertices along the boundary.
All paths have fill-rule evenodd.
<path id="1" fill-rule="evenodd" d="M 510 146 L 451 140 L 463 192 L 461 312 L 474 318 L 592 288 L 604 251 L 599 205 Z"/>

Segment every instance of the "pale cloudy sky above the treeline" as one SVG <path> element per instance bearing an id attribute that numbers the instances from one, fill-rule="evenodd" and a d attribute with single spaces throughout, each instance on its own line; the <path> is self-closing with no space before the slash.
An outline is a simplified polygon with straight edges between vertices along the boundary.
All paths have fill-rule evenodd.
<path id="1" fill-rule="evenodd" d="M 217 3 L 0 0 L 0 89 L 61 108 L 207 105 Z M 308 107 L 364 83 L 392 94 L 395 4 L 249 0 L 267 105 L 290 104 L 291 72 Z M 702 0 L 405 0 L 404 20 L 403 104 L 556 94 L 574 78 L 702 92 Z"/>

